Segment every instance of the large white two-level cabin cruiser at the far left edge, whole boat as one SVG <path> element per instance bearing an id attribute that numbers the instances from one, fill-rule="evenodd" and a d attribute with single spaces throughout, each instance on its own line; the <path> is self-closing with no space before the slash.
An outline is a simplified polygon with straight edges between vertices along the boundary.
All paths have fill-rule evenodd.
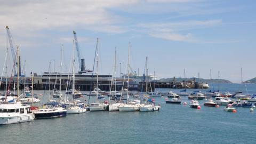
<path id="1" fill-rule="evenodd" d="M 21 102 L 1 103 L 0 125 L 30 122 L 35 118 L 29 105 L 22 105 Z"/>

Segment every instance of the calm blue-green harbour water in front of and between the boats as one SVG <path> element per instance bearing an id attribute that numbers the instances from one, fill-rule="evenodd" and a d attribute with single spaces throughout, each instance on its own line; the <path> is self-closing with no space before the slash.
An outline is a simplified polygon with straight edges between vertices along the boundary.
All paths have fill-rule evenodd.
<path id="1" fill-rule="evenodd" d="M 256 85 L 246 86 L 249 93 L 256 93 Z M 241 90 L 238 84 L 220 87 L 222 92 Z M 256 111 L 237 108 L 237 113 L 228 113 L 223 107 L 204 107 L 204 101 L 199 101 L 202 108 L 197 110 L 188 105 L 165 104 L 164 100 L 155 98 L 162 106 L 155 112 L 87 111 L 63 118 L 2 125 L 0 143 L 253 143 L 256 140 Z M 186 97 L 182 100 L 189 102 Z"/>

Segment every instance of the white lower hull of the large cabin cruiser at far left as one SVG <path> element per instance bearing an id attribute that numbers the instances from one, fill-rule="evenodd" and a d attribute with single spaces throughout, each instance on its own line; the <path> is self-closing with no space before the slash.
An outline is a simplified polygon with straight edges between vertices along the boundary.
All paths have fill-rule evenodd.
<path id="1" fill-rule="evenodd" d="M 33 121 L 34 119 L 35 119 L 34 114 L 26 114 L 21 116 L 14 116 L 14 117 L 0 117 L 0 125 L 30 122 L 30 121 Z"/>

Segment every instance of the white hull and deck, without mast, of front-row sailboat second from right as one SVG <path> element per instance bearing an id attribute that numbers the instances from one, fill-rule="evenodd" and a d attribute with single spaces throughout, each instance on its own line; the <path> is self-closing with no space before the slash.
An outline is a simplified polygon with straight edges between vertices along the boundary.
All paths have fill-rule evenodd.
<path id="1" fill-rule="evenodd" d="M 119 106 L 119 111 L 139 111 L 140 109 L 140 100 L 129 100 L 127 104 Z"/>

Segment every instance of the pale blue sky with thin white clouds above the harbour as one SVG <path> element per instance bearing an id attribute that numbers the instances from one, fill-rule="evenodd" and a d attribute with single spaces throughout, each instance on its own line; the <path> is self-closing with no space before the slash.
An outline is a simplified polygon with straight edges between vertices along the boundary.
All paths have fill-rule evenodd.
<path id="1" fill-rule="evenodd" d="M 256 77 L 256 1 L 238 0 L 84 0 L 2 1 L 0 5 L 0 71 L 4 66 L 9 26 L 21 50 L 26 74 L 63 71 L 70 67 L 73 30 L 77 33 L 86 69 L 92 69 L 99 38 L 99 73 L 112 74 L 115 47 L 125 72 L 129 42 L 130 65 L 159 78 L 228 79 L 241 82 Z M 76 55 L 77 57 L 77 55 Z M 9 53 L 11 69 L 11 54 Z M 77 59 L 77 58 L 76 58 Z M 53 66 L 53 63 L 55 66 Z M 78 70 L 78 61 L 75 68 Z M 9 70 L 11 71 L 11 70 Z"/>

